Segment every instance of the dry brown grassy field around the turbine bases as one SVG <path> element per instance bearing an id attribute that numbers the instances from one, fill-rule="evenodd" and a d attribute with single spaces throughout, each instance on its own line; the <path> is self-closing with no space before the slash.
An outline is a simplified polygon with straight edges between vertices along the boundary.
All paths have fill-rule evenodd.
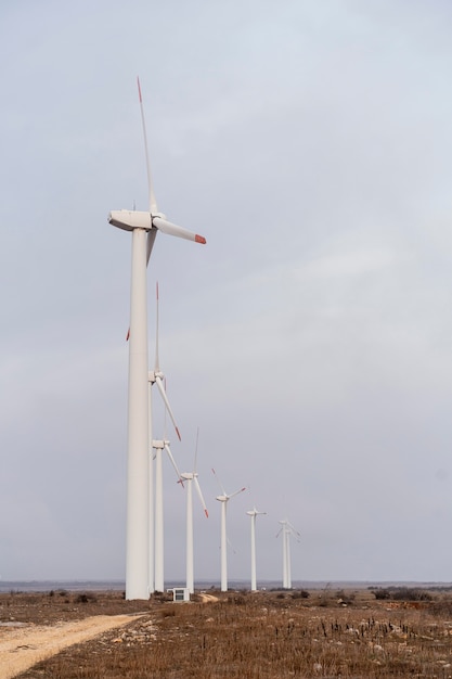
<path id="1" fill-rule="evenodd" d="M 16 676 L 452 678 L 451 592 L 395 589 L 385 595 L 376 599 L 367 589 L 311 591 L 309 598 L 208 590 L 203 600 L 172 603 L 165 597 L 126 602 L 120 592 L 0 594 L 0 645 L 20 623 L 26 640 L 37 626 L 54 632 L 63 622 L 141 614 Z M 14 651 L 26 648 L 23 641 Z"/>

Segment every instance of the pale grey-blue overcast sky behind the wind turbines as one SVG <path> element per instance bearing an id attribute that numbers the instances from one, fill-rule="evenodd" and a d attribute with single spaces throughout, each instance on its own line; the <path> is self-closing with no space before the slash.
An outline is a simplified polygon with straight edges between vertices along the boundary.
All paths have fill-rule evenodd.
<path id="1" fill-rule="evenodd" d="M 131 238 L 155 192 L 160 363 L 195 579 L 452 580 L 452 5 L 0 9 L 0 575 L 124 578 Z M 156 409 L 155 434 L 164 428 Z M 185 496 L 165 467 L 166 579 Z"/>

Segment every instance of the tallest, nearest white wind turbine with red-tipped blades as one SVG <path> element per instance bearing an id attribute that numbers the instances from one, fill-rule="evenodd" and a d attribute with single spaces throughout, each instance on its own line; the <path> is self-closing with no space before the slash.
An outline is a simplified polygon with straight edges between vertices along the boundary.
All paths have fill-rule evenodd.
<path id="1" fill-rule="evenodd" d="M 205 243 L 206 240 L 167 221 L 158 212 L 152 184 L 146 128 L 138 80 L 146 155 L 148 210 L 112 210 L 108 222 L 132 232 L 129 329 L 129 398 L 127 434 L 126 599 L 148 599 L 148 409 L 146 267 L 157 231 Z"/>

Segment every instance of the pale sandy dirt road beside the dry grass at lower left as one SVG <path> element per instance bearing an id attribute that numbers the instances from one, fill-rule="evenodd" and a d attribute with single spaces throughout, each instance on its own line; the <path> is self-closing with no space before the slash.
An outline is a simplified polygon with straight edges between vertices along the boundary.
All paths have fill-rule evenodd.
<path id="1" fill-rule="evenodd" d="M 95 615 L 51 627 L 0 627 L 0 679 L 11 679 L 62 649 L 137 619 L 135 615 Z"/>

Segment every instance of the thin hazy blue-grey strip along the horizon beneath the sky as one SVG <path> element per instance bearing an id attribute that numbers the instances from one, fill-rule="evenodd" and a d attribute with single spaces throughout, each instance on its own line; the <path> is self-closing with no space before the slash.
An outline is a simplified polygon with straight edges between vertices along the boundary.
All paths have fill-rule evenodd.
<path id="1" fill-rule="evenodd" d="M 183 587 L 183 580 L 169 580 L 165 584 L 166 589 Z M 351 581 L 351 580 L 293 580 L 293 589 L 366 589 L 369 587 L 438 587 L 451 588 L 451 582 L 418 582 L 418 581 Z M 203 580 L 195 582 L 196 589 L 219 589 L 217 580 Z M 230 580 L 230 589 L 249 589 L 249 580 Z M 258 581 L 259 589 L 281 589 L 281 580 Z M 59 590 L 67 591 L 124 591 L 124 580 L 0 580 L 0 593 L 4 592 L 50 592 Z"/>

